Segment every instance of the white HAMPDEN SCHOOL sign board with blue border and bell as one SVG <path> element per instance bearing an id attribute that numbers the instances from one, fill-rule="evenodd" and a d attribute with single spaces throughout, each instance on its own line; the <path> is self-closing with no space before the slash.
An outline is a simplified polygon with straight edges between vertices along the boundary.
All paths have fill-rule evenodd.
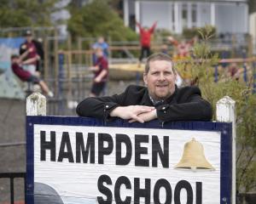
<path id="1" fill-rule="evenodd" d="M 230 203 L 231 124 L 27 116 L 27 173 L 27 203 Z"/>

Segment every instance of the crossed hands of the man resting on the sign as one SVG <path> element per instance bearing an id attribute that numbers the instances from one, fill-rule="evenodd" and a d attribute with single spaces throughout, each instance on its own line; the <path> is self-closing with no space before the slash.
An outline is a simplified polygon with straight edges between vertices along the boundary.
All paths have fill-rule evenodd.
<path id="1" fill-rule="evenodd" d="M 147 119 L 146 116 L 139 117 L 138 115 L 147 114 L 151 111 L 154 111 L 153 106 L 146 105 L 129 105 L 129 106 L 118 106 L 113 111 L 110 112 L 110 116 L 117 116 L 125 120 L 145 122 L 144 119 Z"/>

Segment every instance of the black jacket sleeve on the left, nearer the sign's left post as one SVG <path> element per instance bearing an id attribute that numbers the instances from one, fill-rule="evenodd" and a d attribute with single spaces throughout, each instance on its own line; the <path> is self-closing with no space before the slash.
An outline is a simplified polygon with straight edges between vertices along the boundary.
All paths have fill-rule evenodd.
<path id="1" fill-rule="evenodd" d="M 125 99 L 125 93 L 106 97 L 90 97 L 81 101 L 76 111 L 79 116 L 96 117 L 106 121 L 110 112 L 122 105 L 123 99 Z"/>

